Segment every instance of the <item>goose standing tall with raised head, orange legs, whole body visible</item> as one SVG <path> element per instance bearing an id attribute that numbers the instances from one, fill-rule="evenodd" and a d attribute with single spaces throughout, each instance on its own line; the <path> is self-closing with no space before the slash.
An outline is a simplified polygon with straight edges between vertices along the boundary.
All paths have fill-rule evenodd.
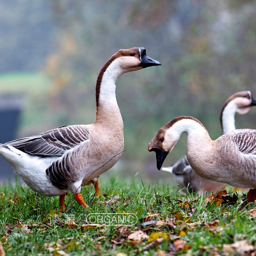
<path id="1" fill-rule="evenodd" d="M 0 154 L 14 172 L 44 196 L 60 196 L 60 210 L 70 191 L 83 207 L 81 185 L 109 170 L 124 148 L 123 121 L 116 101 L 117 78 L 160 62 L 145 48 L 121 49 L 104 64 L 96 82 L 96 117 L 92 124 L 62 126 L 0 144 Z"/>

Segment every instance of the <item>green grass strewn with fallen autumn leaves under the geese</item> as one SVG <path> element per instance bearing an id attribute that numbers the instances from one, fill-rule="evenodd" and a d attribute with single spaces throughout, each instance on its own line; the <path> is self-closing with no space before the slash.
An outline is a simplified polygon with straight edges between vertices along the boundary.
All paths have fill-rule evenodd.
<path id="1" fill-rule="evenodd" d="M 56 210 L 58 197 L 17 183 L 1 185 L 0 237 L 6 255 L 252 255 L 255 250 L 256 221 L 249 212 L 255 204 L 245 206 L 241 195 L 226 204 L 217 196 L 207 203 L 204 196 L 166 184 L 100 182 L 100 198 L 92 186 L 82 188 L 91 209 L 83 210 L 68 193 L 63 213 Z M 138 222 L 90 226 L 85 222 L 90 213 L 133 213 Z"/>

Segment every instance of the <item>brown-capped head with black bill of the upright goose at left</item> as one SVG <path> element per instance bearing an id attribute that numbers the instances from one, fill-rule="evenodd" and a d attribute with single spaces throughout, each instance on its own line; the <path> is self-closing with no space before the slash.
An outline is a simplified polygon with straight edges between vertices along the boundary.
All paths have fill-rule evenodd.
<path id="1" fill-rule="evenodd" d="M 114 55 L 116 55 L 116 61 L 118 61 L 123 72 L 136 71 L 150 66 L 161 65 L 160 62 L 153 60 L 146 55 L 145 48 L 134 47 L 130 49 L 121 49 Z"/>

